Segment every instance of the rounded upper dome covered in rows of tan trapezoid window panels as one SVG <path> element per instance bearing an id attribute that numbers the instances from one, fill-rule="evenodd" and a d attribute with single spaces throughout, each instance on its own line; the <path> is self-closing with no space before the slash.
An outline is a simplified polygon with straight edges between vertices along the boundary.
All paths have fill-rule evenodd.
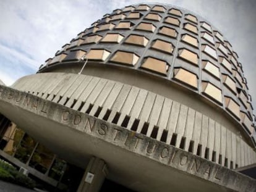
<path id="1" fill-rule="evenodd" d="M 202 17 L 167 5 L 143 4 L 116 9 L 64 45 L 39 73 L 79 72 L 82 57 L 88 59 L 87 65 L 95 68 L 93 73 L 85 69 L 85 74 L 118 81 L 122 78 L 122 83 L 146 88 L 203 114 L 205 111 L 198 108 L 211 105 L 221 119 L 222 115 L 229 116 L 227 119 L 237 124 L 232 127 L 237 127 L 255 146 L 253 138 L 249 138 L 254 132 L 255 117 L 242 65 L 228 40 Z M 94 74 L 97 70 L 116 70 L 117 74 L 109 71 Z M 120 73 L 126 73 L 127 79 Z M 177 99 L 169 91 L 158 92 L 150 83 L 151 88 L 140 85 L 142 77 L 139 76 L 162 80 L 169 90 L 182 90 L 192 96 L 184 101 L 181 95 Z M 195 99 L 208 104 L 195 107 L 198 103 L 191 103 Z M 161 100 L 163 107 L 164 99 Z M 216 114 L 207 115 L 219 123 L 223 121 Z"/>

